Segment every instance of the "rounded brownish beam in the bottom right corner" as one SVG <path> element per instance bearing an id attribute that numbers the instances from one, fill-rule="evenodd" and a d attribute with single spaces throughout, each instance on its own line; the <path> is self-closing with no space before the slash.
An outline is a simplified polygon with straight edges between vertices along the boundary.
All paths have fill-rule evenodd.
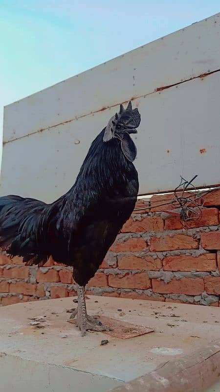
<path id="1" fill-rule="evenodd" d="M 165 362 L 154 371 L 119 386 L 113 391 L 201 392 L 207 391 L 207 388 L 219 380 L 220 343 L 215 342 L 187 357 Z"/>

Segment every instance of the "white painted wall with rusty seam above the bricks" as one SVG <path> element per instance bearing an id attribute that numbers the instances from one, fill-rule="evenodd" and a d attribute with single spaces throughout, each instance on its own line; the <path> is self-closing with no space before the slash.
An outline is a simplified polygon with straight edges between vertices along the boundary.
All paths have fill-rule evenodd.
<path id="1" fill-rule="evenodd" d="M 130 99 L 142 119 L 140 194 L 173 190 L 180 174 L 198 174 L 199 187 L 220 184 L 219 42 L 217 14 L 7 106 L 0 195 L 61 196 Z"/>

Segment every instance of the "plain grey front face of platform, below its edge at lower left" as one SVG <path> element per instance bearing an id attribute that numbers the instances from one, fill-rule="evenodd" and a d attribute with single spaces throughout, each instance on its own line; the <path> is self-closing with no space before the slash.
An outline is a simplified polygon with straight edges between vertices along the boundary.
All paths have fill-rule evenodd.
<path id="1" fill-rule="evenodd" d="M 86 371 L 0 354 L 1 385 L 4 391 L 88 392 L 106 391 L 123 381 Z M 91 387 L 92 386 L 92 387 Z M 2 390 L 2 391 L 3 391 Z"/>

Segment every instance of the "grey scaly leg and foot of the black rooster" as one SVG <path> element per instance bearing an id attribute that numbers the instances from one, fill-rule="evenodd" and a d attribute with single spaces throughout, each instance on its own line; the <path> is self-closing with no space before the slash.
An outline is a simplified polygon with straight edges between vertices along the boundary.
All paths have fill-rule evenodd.
<path id="1" fill-rule="evenodd" d="M 92 316 L 88 316 L 85 300 L 85 287 L 77 285 L 78 294 L 78 308 L 70 316 L 73 319 L 77 315 L 77 326 L 79 327 L 82 336 L 86 335 L 86 331 L 110 331 L 109 327 L 106 327 L 101 321 L 95 319 Z"/>

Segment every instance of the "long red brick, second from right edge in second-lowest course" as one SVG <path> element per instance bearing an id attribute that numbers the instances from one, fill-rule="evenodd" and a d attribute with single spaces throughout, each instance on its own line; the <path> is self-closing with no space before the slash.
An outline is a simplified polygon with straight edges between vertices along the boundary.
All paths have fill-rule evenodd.
<path id="1" fill-rule="evenodd" d="M 173 279 L 169 283 L 162 280 L 152 279 L 154 293 L 159 294 L 188 294 L 199 295 L 204 291 L 204 282 L 200 278 Z"/>

